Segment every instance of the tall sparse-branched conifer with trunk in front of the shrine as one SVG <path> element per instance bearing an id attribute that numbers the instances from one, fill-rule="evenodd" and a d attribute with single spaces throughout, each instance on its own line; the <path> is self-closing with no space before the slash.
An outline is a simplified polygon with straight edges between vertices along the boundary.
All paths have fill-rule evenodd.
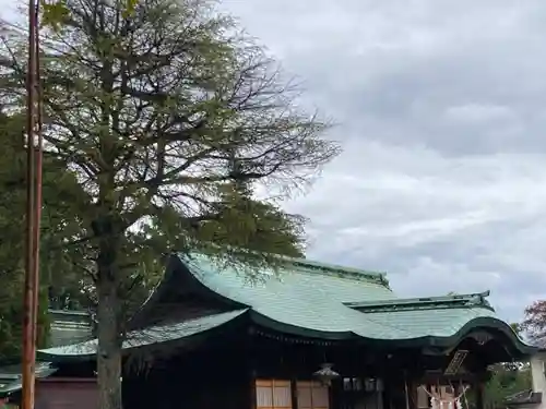
<path id="1" fill-rule="evenodd" d="M 94 263 L 99 406 L 121 408 L 123 323 L 157 254 L 200 252 L 244 273 L 300 254 L 301 219 L 252 199 L 288 194 L 339 149 L 297 89 L 209 1 L 67 0 L 43 56 L 48 149 L 75 169 L 82 252 Z M 15 33 L 11 40 L 23 41 Z M 24 70 L 4 52 L 3 97 Z M 233 155 L 237 154 L 237 167 Z M 248 193 L 234 189 L 244 182 Z"/>

